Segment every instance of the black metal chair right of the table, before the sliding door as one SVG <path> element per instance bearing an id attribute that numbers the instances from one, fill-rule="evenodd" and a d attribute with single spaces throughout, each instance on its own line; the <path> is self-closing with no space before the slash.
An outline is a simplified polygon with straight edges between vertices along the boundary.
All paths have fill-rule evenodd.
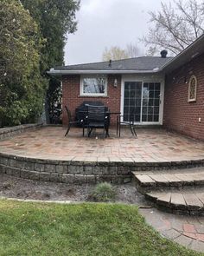
<path id="1" fill-rule="evenodd" d="M 119 135 L 120 137 L 120 132 L 121 132 L 121 124 L 122 125 L 127 125 L 129 126 L 131 130 L 131 134 L 137 137 L 136 133 L 136 125 L 135 125 L 135 109 L 131 111 L 131 114 L 129 116 L 129 121 L 121 121 L 121 118 L 124 117 L 124 115 L 118 115 L 117 116 L 117 136 Z"/>

